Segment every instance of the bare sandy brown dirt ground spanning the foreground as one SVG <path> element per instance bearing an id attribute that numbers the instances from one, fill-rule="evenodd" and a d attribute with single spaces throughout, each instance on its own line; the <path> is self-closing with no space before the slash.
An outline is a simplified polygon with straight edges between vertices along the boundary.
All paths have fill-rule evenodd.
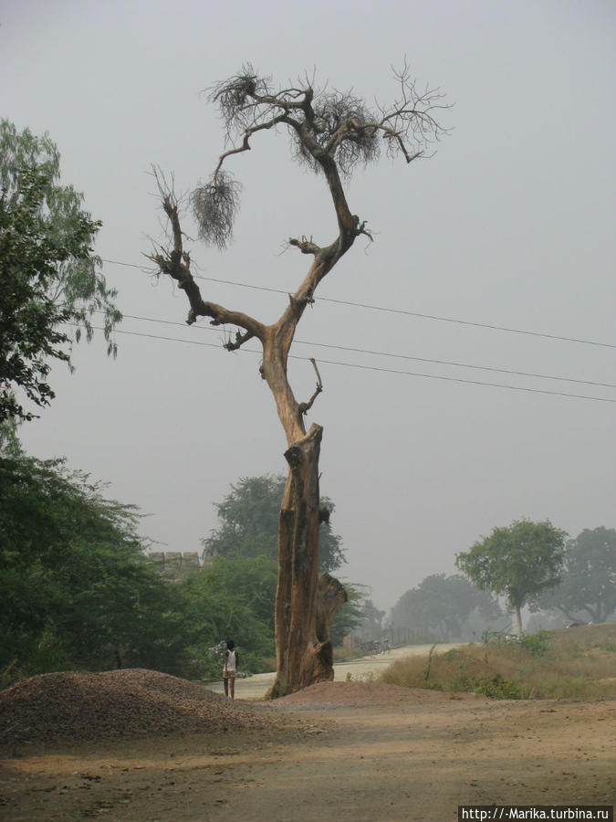
<path id="1" fill-rule="evenodd" d="M 463 803 L 614 801 L 616 701 L 488 701 L 337 682 L 256 710 L 277 722 L 16 744 L 0 762 L 0 819 L 441 822 Z"/>

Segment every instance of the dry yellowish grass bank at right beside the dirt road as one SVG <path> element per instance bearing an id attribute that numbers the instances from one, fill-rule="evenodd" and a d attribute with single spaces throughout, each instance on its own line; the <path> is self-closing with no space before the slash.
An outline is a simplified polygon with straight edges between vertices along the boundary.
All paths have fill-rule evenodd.
<path id="1" fill-rule="evenodd" d="M 550 631 L 517 642 L 465 645 L 394 662 L 381 681 L 500 699 L 616 696 L 616 624 Z"/>

